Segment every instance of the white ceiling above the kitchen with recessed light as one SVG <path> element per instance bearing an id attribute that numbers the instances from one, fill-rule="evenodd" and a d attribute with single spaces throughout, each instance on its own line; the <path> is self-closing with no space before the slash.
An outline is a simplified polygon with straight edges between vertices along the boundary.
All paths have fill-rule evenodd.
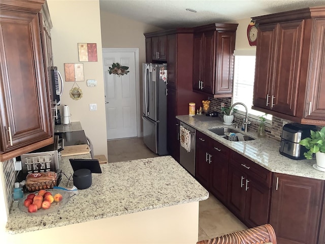
<path id="1" fill-rule="evenodd" d="M 307 7 L 325 0 L 100 0 L 106 12 L 161 28 L 194 27 Z M 187 12 L 194 9 L 197 13 Z"/>

